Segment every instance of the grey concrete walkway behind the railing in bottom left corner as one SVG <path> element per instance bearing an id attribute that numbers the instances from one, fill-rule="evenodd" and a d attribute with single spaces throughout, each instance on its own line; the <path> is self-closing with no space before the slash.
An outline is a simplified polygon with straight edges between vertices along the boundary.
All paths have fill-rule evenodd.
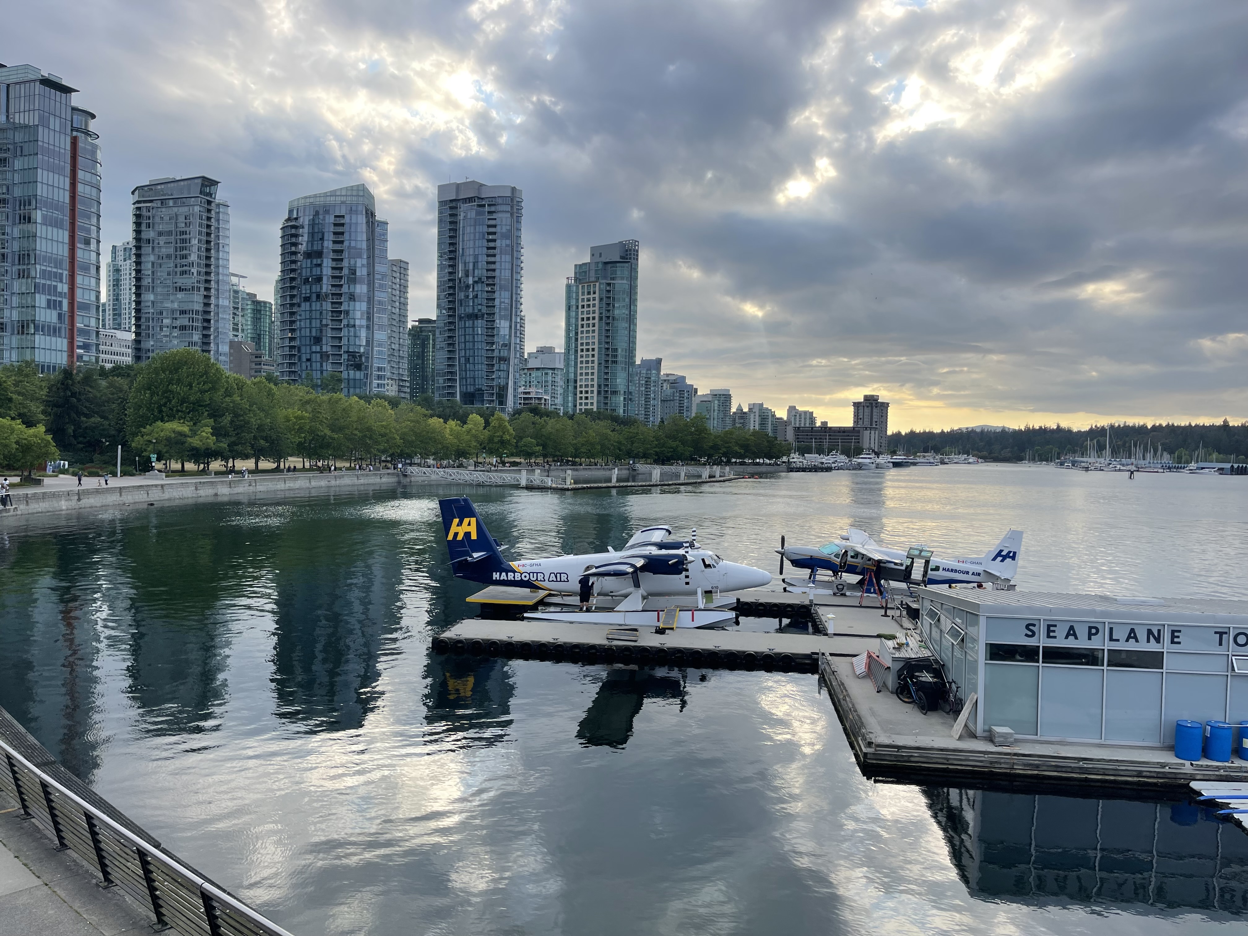
<path id="1" fill-rule="evenodd" d="M 119 887 L 69 851 L 56 851 L 34 822 L 0 800 L 0 936 L 151 934 L 150 917 Z"/>

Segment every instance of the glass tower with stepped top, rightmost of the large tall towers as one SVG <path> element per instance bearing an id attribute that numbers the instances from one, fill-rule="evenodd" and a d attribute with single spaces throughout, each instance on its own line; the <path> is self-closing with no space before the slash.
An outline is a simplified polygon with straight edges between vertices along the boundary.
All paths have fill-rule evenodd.
<path id="1" fill-rule="evenodd" d="M 635 372 L 639 256 L 636 241 L 603 243 L 590 247 L 589 262 L 577 263 L 568 277 L 563 344 L 567 414 L 602 409 L 640 416 Z"/>

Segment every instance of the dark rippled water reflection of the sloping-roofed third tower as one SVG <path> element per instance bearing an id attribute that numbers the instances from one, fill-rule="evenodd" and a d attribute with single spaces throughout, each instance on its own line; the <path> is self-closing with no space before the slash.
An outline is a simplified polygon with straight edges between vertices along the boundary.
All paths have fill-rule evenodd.
<path id="1" fill-rule="evenodd" d="M 321 538 L 323 537 L 323 538 Z M 383 646 L 399 626 L 403 564 L 392 543 L 368 553 L 287 542 L 276 564 L 273 693 L 278 718 L 312 731 L 361 728 L 377 708 Z"/>

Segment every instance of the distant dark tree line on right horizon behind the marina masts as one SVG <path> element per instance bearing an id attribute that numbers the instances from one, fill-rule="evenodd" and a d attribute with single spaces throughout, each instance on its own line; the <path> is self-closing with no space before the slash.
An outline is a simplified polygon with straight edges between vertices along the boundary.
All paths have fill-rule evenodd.
<path id="1" fill-rule="evenodd" d="M 1099 443 L 1104 457 L 1104 426 L 1075 429 L 1068 426 L 1025 426 L 1021 429 L 945 429 L 889 433 L 892 451 L 967 454 L 993 462 L 1052 462 L 1067 456 L 1086 454 L 1088 442 Z M 1203 451 L 1207 462 L 1243 462 L 1248 458 L 1248 422 L 1221 423 L 1118 423 L 1109 426 L 1109 446 L 1114 458 L 1129 458 L 1132 452 L 1154 457 L 1164 452 L 1172 461 L 1186 464 Z"/>

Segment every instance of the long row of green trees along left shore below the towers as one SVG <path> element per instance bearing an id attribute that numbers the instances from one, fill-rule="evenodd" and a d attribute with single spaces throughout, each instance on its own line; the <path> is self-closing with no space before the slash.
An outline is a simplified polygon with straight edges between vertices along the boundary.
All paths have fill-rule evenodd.
<path id="1" fill-rule="evenodd" d="M 334 374 L 337 376 L 337 374 Z M 563 417 L 530 407 L 510 418 L 454 401 L 343 397 L 324 387 L 248 381 L 181 348 L 144 364 L 40 374 L 0 367 L 0 466 L 32 470 L 60 456 L 107 470 L 207 470 L 216 463 L 381 463 L 520 458 L 529 462 L 729 462 L 780 458 L 789 446 L 763 432 L 711 432 L 703 417 L 660 426 L 609 413 Z M 127 472 L 129 469 L 129 472 Z"/>

